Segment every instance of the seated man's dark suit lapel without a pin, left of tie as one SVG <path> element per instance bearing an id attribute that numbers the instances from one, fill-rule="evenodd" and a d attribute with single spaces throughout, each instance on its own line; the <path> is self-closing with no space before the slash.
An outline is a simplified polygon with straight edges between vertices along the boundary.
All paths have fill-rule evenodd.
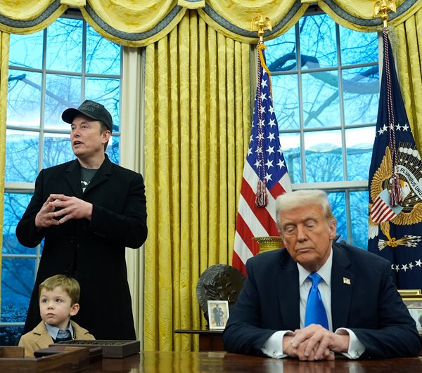
<path id="1" fill-rule="evenodd" d="M 278 299 L 283 327 L 290 330 L 300 328 L 299 312 L 299 272 L 298 265 L 284 249 L 281 259 L 281 269 L 276 273 L 276 284 L 279 284 Z M 287 299 L 287 301 L 286 301 Z"/>

